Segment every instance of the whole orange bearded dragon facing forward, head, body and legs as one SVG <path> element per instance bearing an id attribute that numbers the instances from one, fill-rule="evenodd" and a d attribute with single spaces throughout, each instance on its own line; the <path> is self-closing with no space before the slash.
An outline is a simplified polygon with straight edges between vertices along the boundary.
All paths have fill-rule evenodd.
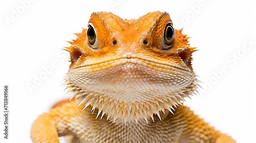
<path id="1" fill-rule="evenodd" d="M 33 142 L 235 142 L 182 105 L 198 87 L 197 51 L 166 12 L 139 19 L 92 13 L 67 47 L 73 99 L 32 125 Z"/>

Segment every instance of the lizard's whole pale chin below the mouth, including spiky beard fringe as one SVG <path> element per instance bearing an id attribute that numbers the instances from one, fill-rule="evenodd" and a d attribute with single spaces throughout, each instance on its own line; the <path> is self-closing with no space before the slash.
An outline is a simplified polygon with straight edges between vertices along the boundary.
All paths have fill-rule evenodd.
<path id="1" fill-rule="evenodd" d="M 151 70 L 146 66 L 139 68 L 139 65 L 132 64 L 134 66 L 136 65 L 135 67 L 139 68 L 140 71 L 144 71 L 141 73 L 148 71 L 148 75 L 144 74 L 144 77 L 148 77 L 151 73 L 161 77 L 155 77 L 151 80 L 148 78 L 142 81 L 135 80 L 131 78 L 135 75 L 130 76 L 133 72 L 127 74 L 127 68 L 125 68 L 127 65 L 131 67 L 131 64 L 125 63 L 102 69 L 99 73 L 87 73 L 88 78 L 83 79 L 79 77 L 84 75 L 81 71 L 86 73 L 86 69 L 70 69 L 66 77 L 66 88 L 69 88 L 69 92 L 73 92 L 72 98 L 78 99 L 78 106 L 84 105 L 85 109 L 91 105 L 92 111 L 97 109 L 97 117 L 102 118 L 103 115 L 107 115 L 108 119 L 113 119 L 113 122 L 126 123 L 127 121 L 137 122 L 140 118 L 143 118 L 147 122 L 149 116 L 154 121 L 154 114 L 157 114 L 161 119 L 161 111 L 165 112 L 167 109 L 173 112 L 172 110 L 175 110 L 174 107 L 181 104 L 181 101 L 184 101 L 185 97 L 193 94 L 198 85 L 193 71 L 191 71 L 190 76 L 185 78 L 188 80 L 181 80 L 180 77 L 184 77 L 184 73 L 189 75 L 187 73 L 188 71 L 183 71 L 183 75 L 181 76 L 180 74 L 182 72 L 178 72 L 179 74 L 175 75 L 170 74 L 175 73 L 174 71 L 165 72 L 161 71 L 161 68 Z M 115 75 L 116 73 L 119 75 Z M 106 77 L 107 79 L 101 79 L 98 75 Z M 119 77 L 120 75 L 127 76 Z M 138 75 L 136 76 L 138 77 Z M 113 80 L 108 79 L 108 77 L 111 77 Z M 142 75 L 139 75 L 139 77 L 141 78 Z M 169 84 L 160 84 L 162 79 L 165 79 L 164 82 Z M 108 81 L 111 81 L 113 84 L 110 85 Z"/>

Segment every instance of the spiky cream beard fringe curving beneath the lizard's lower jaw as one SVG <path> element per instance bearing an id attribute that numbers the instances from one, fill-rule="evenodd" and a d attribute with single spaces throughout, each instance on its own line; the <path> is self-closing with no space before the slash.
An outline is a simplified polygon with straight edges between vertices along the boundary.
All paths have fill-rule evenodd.
<path id="1" fill-rule="evenodd" d="M 198 80 L 195 79 L 185 88 L 175 92 L 164 94 L 162 96 L 155 96 L 146 100 L 119 100 L 112 94 L 103 94 L 95 91 L 90 91 L 88 88 L 77 86 L 66 78 L 68 92 L 73 92 L 72 98 L 78 99 L 78 106 L 92 107 L 92 112 L 96 109 L 98 111 L 96 118 L 108 116 L 107 120 L 116 123 L 126 123 L 129 121 L 136 121 L 143 118 L 148 122 L 148 117 L 154 121 L 154 114 L 158 115 L 161 120 L 160 113 L 165 111 L 172 112 L 176 106 L 181 105 L 181 101 L 189 95 L 194 94 L 197 90 Z M 71 99 L 72 99 L 71 98 Z"/>

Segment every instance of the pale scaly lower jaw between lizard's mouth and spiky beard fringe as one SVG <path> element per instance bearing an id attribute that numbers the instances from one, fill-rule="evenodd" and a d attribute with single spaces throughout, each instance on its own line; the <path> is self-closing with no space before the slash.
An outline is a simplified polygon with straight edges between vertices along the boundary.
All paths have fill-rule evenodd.
<path id="1" fill-rule="evenodd" d="M 169 96 L 193 82 L 192 73 L 179 66 L 165 63 L 152 67 L 146 62 L 120 59 L 112 66 L 91 71 L 93 65 L 70 69 L 70 82 L 87 91 L 109 95 L 119 102 L 144 102 L 155 97 Z M 141 63 L 141 64 L 140 64 Z M 100 63 L 99 63 L 100 64 Z M 94 64 L 95 65 L 95 64 Z"/>

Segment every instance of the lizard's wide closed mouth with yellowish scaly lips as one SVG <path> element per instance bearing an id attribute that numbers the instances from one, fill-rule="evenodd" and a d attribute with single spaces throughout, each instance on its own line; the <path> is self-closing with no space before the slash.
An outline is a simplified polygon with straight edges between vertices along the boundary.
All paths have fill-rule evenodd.
<path id="1" fill-rule="evenodd" d="M 185 55 L 184 52 L 180 53 L 180 57 L 183 61 L 184 59 L 186 59 L 184 55 Z M 191 75 L 190 68 L 186 66 L 178 65 L 172 62 L 157 60 L 150 56 L 141 56 L 141 55 L 135 55 L 135 54 L 134 55 L 123 54 L 122 56 L 106 57 L 106 58 L 101 58 L 100 60 L 97 60 L 97 61 L 86 60 L 83 62 L 83 64 L 80 64 L 79 66 L 74 66 L 72 69 L 78 68 L 82 70 L 85 69 L 89 71 L 99 71 L 106 68 L 110 68 L 118 65 L 125 65 L 129 63 L 141 65 L 144 67 L 150 67 L 155 70 L 165 71 L 167 73 L 173 73 L 174 71 L 177 71 L 182 74 Z"/>

